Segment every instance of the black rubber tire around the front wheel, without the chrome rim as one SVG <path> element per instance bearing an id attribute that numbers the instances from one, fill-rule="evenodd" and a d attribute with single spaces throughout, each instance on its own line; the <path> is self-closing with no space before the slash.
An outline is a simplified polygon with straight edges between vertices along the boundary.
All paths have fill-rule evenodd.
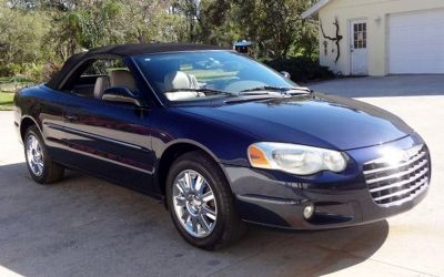
<path id="1" fill-rule="evenodd" d="M 209 163 L 202 163 L 202 161 L 198 161 L 198 158 L 179 158 L 176 162 L 173 163 L 171 166 L 170 173 L 167 178 L 167 204 L 170 209 L 170 215 L 174 222 L 175 227 L 180 232 L 180 234 L 185 238 L 186 242 L 189 242 L 192 245 L 195 245 L 198 247 L 204 248 L 204 249 L 212 249 L 219 240 L 222 238 L 223 233 L 224 233 L 224 227 L 226 224 L 226 203 L 222 199 L 222 192 L 223 189 L 221 186 L 226 185 L 221 182 L 220 176 L 214 176 L 216 173 L 211 173 L 211 165 Z M 178 218 L 174 206 L 173 206 L 173 185 L 176 176 L 186 170 L 195 171 L 199 174 L 201 174 L 206 182 L 209 183 L 211 189 L 214 193 L 214 198 L 216 201 L 216 207 L 218 207 L 218 218 L 216 223 L 214 226 L 213 232 L 208 235 L 206 237 L 203 238 L 196 238 L 193 237 L 191 234 L 189 234 L 180 223 L 180 219 Z"/>

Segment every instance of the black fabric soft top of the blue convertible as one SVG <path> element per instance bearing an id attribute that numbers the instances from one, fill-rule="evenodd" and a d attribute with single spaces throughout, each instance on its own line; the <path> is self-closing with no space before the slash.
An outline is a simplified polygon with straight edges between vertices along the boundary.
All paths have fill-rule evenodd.
<path id="1" fill-rule="evenodd" d="M 56 73 L 47 83 L 51 89 L 57 89 L 63 79 L 80 62 L 100 55 L 128 57 L 144 53 L 163 53 L 180 51 L 199 51 L 199 50 L 226 50 L 214 45 L 204 44 L 181 44 L 181 43 L 152 43 L 152 44 L 115 44 L 102 48 L 94 48 L 88 52 L 71 55 L 63 64 L 62 69 Z"/>

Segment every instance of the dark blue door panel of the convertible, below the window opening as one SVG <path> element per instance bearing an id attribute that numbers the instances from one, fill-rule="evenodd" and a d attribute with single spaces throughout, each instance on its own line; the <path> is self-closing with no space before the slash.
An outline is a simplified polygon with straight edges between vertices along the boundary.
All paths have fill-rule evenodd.
<path id="1" fill-rule="evenodd" d="M 124 185 L 153 192 L 155 155 L 151 150 L 150 111 L 93 99 L 67 107 L 65 143 L 73 164 Z M 75 155 L 78 153 L 80 155 Z"/>

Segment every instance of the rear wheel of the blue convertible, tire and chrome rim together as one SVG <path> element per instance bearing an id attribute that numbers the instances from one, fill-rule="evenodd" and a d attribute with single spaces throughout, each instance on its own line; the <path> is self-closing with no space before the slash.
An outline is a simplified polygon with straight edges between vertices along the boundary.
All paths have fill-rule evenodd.
<path id="1" fill-rule="evenodd" d="M 64 167 L 52 161 L 36 125 L 26 131 L 23 145 L 28 171 L 37 183 L 51 184 L 63 178 Z"/>

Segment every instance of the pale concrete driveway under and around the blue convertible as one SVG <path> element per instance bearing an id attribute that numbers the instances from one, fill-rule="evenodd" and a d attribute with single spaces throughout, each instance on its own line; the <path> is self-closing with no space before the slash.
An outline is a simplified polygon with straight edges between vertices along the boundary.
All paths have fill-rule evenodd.
<path id="1" fill-rule="evenodd" d="M 345 79 L 313 88 L 352 93 L 353 86 L 367 96 L 363 101 L 398 114 L 423 135 L 434 171 L 425 201 L 354 228 L 252 227 L 238 245 L 215 253 L 184 243 L 163 206 L 147 196 L 74 172 L 62 183 L 37 185 L 12 114 L 0 113 L 0 276 L 444 276 L 444 78 L 431 95 L 386 96 L 402 88 L 370 93 L 385 82 Z"/>

